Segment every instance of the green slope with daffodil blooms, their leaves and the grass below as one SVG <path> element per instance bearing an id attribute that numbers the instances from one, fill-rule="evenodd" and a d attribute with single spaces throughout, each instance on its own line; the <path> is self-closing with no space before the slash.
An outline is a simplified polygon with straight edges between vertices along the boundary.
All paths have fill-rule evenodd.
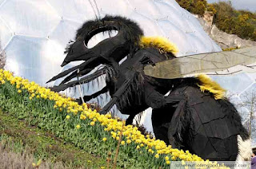
<path id="1" fill-rule="evenodd" d="M 79 105 L 71 98 L 51 92 L 49 88 L 42 88 L 33 81 L 14 77 L 12 73 L 2 69 L 0 108 L 1 137 L 12 137 L 16 140 L 14 143 L 20 142 L 25 147 L 33 147 L 32 154 L 37 160 L 48 159 L 54 162 L 55 159 L 60 159 L 65 165 L 71 163 L 74 167 L 79 167 L 85 164 L 87 167 L 89 163 L 86 160 L 91 158 L 91 162 L 94 161 L 95 164 L 92 167 L 96 168 L 117 166 L 136 169 L 170 168 L 172 161 L 180 161 L 182 165 L 186 165 L 185 161 L 213 164 L 189 151 L 167 146 L 162 140 L 144 136 L 138 128 L 126 126 L 124 121 L 110 114 L 100 115 L 96 110 L 88 108 L 87 104 Z M 26 126 L 19 126 L 25 124 Z M 34 129 L 30 130 L 31 126 Z M 30 128 L 25 129 L 26 127 Z M 66 144 L 63 145 L 64 143 Z M 68 145 L 75 145 L 86 153 L 74 150 L 73 147 L 69 149 Z M 74 158 L 68 160 L 65 151 L 74 155 Z M 101 158 L 97 159 L 98 156 Z M 110 165 L 104 162 L 106 159 L 110 161 Z"/>

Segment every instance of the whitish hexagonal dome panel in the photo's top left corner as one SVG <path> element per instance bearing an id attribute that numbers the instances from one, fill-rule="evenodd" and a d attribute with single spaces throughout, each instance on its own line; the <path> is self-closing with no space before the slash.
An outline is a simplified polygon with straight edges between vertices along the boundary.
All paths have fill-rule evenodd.
<path id="1" fill-rule="evenodd" d="M 45 1 L 8 0 L 0 8 L 0 15 L 14 33 L 46 37 L 60 17 Z"/>

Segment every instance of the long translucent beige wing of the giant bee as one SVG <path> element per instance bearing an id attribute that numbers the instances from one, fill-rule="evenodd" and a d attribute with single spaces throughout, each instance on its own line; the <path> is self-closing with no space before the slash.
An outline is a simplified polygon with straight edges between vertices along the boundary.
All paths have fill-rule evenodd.
<path id="1" fill-rule="evenodd" d="M 218 53 L 202 53 L 146 65 L 144 73 L 150 77 L 176 79 L 197 74 L 231 74 L 242 71 L 256 72 L 256 46 Z"/>

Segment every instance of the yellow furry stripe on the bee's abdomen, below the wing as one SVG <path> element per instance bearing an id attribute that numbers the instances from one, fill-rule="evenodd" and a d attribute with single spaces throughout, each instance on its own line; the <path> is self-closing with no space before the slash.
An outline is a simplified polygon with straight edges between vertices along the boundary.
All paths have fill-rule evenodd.
<path id="1" fill-rule="evenodd" d="M 208 91 L 213 93 L 215 100 L 224 98 L 226 90 L 218 85 L 217 82 L 212 81 L 207 75 L 199 75 L 197 78 L 201 82 L 201 84 L 198 85 L 201 92 Z"/>

